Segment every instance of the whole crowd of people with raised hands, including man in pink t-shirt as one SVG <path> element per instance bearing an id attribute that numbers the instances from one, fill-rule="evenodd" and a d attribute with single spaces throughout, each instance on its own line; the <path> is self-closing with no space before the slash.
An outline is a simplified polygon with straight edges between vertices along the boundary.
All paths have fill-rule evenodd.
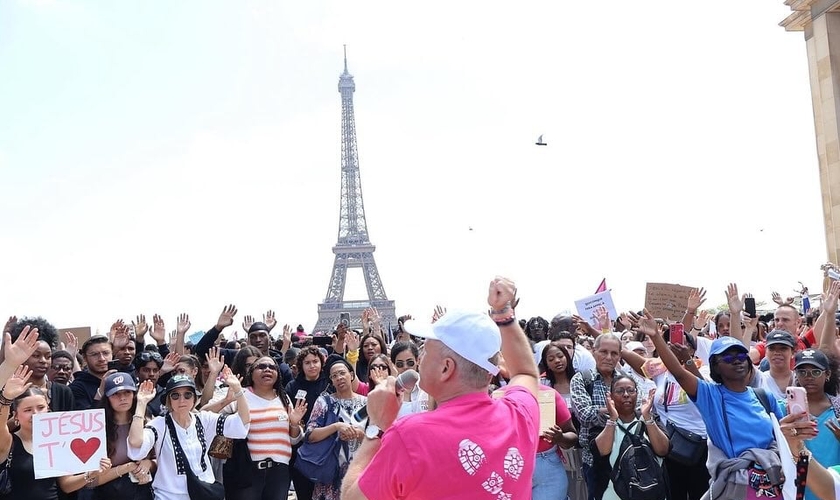
<path id="1" fill-rule="evenodd" d="M 0 499 L 840 498 L 840 282 L 760 316 L 693 290 L 679 321 L 489 311 L 309 335 L 237 308 L 116 321 L 81 345 L 11 317 L 0 358 Z M 807 304 L 806 304 L 807 307 Z M 418 382 L 419 380 L 419 382 Z M 33 416 L 102 409 L 106 458 L 36 479 Z"/>

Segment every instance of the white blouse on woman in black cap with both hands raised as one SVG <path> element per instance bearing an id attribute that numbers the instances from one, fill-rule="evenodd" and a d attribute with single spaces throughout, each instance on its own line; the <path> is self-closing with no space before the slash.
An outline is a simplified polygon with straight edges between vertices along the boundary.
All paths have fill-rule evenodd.
<path id="1" fill-rule="evenodd" d="M 205 470 L 201 470 L 201 442 L 198 439 L 198 434 L 195 429 L 195 418 L 198 418 L 204 429 L 204 440 L 206 442 L 204 463 L 207 465 Z M 191 413 L 190 423 L 186 429 L 182 428 L 178 425 L 178 422 L 173 420 L 178 441 L 181 443 L 181 448 L 184 450 L 184 456 L 190 468 L 192 468 L 192 471 L 199 479 L 208 483 L 216 480 L 213 475 L 213 468 L 210 466 L 210 457 L 207 456 L 206 450 L 210 449 L 210 443 L 216 437 L 216 422 L 218 419 L 218 413 L 209 411 Z M 175 463 L 175 449 L 172 447 L 172 436 L 170 436 L 169 428 L 166 425 L 166 419 L 164 417 L 155 417 L 146 424 L 146 427 L 143 429 L 143 444 L 139 448 L 128 444 L 128 458 L 131 460 L 145 458 L 154 446 L 157 455 L 157 473 L 152 482 L 155 499 L 190 500 L 190 496 L 187 493 L 187 477 L 186 475 L 178 474 L 178 468 Z M 148 427 L 152 427 L 157 431 L 157 439 L 155 439 L 155 433 L 151 429 L 148 429 Z M 248 435 L 248 424 L 243 424 L 239 415 L 230 415 L 225 420 L 224 435 L 229 438 L 244 439 Z"/>

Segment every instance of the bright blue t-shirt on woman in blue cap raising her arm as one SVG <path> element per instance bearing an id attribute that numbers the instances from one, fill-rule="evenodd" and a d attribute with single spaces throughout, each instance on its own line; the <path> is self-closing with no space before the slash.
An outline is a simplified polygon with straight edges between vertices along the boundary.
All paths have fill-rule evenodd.
<path id="1" fill-rule="evenodd" d="M 768 395 L 767 399 L 776 417 L 783 418 L 785 414 L 776 398 Z M 732 392 L 722 384 L 698 380 L 697 395 L 692 400 L 703 416 L 709 439 L 727 458 L 736 458 L 750 448 L 766 450 L 775 440 L 773 421 L 751 387 L 747 387 L 744 392 Z M 726 431 L 726 419 L 723 418 L 724 400 L 729 433 Z"/>

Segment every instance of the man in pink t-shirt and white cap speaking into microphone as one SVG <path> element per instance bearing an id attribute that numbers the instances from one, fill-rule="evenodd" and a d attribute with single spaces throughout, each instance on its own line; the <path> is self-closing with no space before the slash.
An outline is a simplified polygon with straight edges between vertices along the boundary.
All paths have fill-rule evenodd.
<path id="1" fill-rule="evenodd" d="M 438 408 L 394 423 L 400 408 L 394 378 L 377 385 L 342 499 L 531 497 L 539 373 L 514 317 L 515 295 L 511 281 L 496 278 L 489 316 L 449 311 L 432 325 L 405 323 L 406 331 L 426 339 L 420 385 Z M 500 350 L 511 378 L 494 400 L 488 390 Z"/>

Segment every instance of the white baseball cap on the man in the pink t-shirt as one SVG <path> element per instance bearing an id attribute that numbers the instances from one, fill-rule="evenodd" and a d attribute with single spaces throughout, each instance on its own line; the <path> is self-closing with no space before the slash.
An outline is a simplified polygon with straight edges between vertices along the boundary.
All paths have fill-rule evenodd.
<path id="1" fill-rule="evenodd" d="M 498 325 L 485 313 L 451 310 L 434 323 L 408 320 L 403 328 L 411 335 L 443 342 L 491 375 L 499 373 L 499 367 L 490 358 L 502 348 L 502 335 Z"/>

